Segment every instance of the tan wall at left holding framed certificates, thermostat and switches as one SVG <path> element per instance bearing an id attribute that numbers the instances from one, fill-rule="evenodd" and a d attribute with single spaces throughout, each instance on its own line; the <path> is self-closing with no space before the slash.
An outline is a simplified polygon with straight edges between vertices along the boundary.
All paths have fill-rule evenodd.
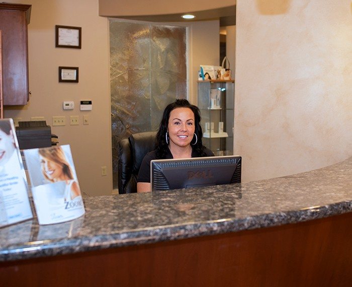
<path id="1" fill-rule="evenodd" d="M 98 16 L 98 0 L 7 0 L 32 4 L 28 26 L 30 101 L 24 107 L 7 107 L 5 117 L 30 120 L 66 116 L 66 126 L 52 126 L 61 145 L 69 144 L 81 189 L 91 195 L 111 194 L 111 128 L 108 20 Z M 82 27 L 82 49 L 55 48 L 55 25 Z M 79 83 L 58 83 L 58 66 L 78 66 Z M 74 101 L 73 111 L 62 110 Z M 92 100 L 93 110 L 81 112 L 80 100 Z M 69 116 L 80 123 L 70 126 Z M 82 124 L 89 115 L 90 124 Z M 101 175 L 107 166 L 107 176 Z"/>

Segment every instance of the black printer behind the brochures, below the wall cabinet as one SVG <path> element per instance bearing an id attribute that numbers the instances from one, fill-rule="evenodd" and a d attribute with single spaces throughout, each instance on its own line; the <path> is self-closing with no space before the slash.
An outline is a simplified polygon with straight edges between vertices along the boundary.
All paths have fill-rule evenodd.
<path id="1" fill-rule="evenodd" d="M 20 150 L 47 148 L 52 146 L 51 127 L 46 121 L 19 121 L 16 135 Z M 56 142 L 54 143 L 56 145 Z"/>

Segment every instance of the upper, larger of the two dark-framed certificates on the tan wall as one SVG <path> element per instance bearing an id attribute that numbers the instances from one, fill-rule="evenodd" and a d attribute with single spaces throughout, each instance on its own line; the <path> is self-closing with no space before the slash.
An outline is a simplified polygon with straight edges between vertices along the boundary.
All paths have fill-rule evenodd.
<path id="1" fill-rule="evenodd" d="M 55 25 L 55 47 L 81 48 L 81 27 Z"/>

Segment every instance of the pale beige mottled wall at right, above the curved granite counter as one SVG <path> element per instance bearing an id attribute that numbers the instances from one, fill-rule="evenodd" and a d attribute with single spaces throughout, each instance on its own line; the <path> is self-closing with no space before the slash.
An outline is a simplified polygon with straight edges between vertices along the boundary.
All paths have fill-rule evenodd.
<path id="1" fill-rule="evenodd" d="M 351 11 L 349 0 L 237 1 L 234 150 L 243 181 L 352 155 Z"/>

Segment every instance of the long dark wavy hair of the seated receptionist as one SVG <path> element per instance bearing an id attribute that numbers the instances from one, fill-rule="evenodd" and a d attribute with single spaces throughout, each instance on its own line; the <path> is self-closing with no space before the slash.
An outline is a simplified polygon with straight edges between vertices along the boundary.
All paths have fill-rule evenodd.
<path id="1" fill-rule="evenodd" d="M 194 114 L 194 119 L 195 119 L 195 134 L 197 134 L 197 142 L 196 144 L 192 145 L 192 142 L 196 141 L 196 137 L 193 136 L 193 139 L 191 141 L 191 147 L 194 151 L 196 151 L 199 155 L 201 156 L 206 156 L 204 150 L 205 147 L 203 146 L 202 143 L 202 136 L 203 136 L 203 131 L 201 127 L 201 115 L 200 115 L 200 110 L 197 106 L 191 105 L 189 101 L 186 99 L 177 99 L 173 103 L 170 103 L 166 106 L 164 109 L 164 112 L 162 114 L 162 118 L 159 124 L 159 130 L 156 134 L 156 143 L 155 143 L 155 153 L 156 153 L 156 158 L 157 159 L 164 159 L 166 156 L 166 151 L 168 149 L 168 145 L 166 143 L 166 132 L 167 132 L 167 125 L 168 125 L 168 119 L 170 117 L 170 113 L 172 110 L 177 109 L 177 108 L 189 108 L 192 110 Z"/>

